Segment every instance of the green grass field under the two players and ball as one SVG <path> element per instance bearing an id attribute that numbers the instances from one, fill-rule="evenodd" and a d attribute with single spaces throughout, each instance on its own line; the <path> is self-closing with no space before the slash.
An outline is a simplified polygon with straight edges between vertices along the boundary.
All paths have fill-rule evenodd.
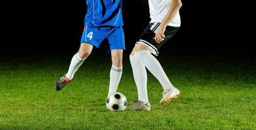
<path id="1" fill-rule="evenodd" d="M 160 105 L 163 88 L 148 73 L 152 110 L 111 112 L 105 107 L 110 57 L 94 54 L 59 92 L 54 83 L 72 54 L 1 58 L 0 129 L 256 129 L 253 57 L 160 55 L 180 98 Z M 136 86 L 129 59 L 123 60 L 118 92 L 131 104 Z"/>

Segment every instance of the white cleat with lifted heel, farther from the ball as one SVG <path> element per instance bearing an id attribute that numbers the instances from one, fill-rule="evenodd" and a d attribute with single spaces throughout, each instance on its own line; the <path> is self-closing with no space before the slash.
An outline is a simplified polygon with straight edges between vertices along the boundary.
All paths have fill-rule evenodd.
<path id="1" fill-rule="evenodd" d="M 163 92 L 163 98 L 160 101 L 161 105 L 167 105 L 172 101 L 172 99 L 176 99 L 180 96 L 180 90 L 178 88 L 174 88 L 168 90 L 167 92 Z"/>

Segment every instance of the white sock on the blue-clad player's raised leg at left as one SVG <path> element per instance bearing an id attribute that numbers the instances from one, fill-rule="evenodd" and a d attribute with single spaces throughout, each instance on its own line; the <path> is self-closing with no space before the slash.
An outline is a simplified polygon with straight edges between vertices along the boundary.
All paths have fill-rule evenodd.
<path id="1" fill-rule="evenodd" d="M 73 79 L 74 73 L 78 70 L 78 68 L 83 64 L 85 59 L 81 59 L 76 53 L 71 60 L 71 64 L 69 66 L 69 72 L 67 72 L 66 76 L 69 80 Z"/>

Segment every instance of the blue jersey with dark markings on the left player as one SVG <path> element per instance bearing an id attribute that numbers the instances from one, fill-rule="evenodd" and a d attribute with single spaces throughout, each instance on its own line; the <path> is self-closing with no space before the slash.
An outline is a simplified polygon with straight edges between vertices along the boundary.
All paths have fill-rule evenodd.
<path id="1" fill-rule="evenodd" d="M 123 26 L 123 0 L 86 0 L 85 25 L 89 27 Z"/>

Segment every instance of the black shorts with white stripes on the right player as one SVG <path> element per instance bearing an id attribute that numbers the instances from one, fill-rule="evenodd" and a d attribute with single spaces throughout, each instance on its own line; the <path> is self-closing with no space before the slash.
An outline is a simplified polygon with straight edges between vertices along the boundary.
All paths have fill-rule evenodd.
<path id="1" fill-rule="evenodd" d="M 152 49 L 152 53 L 157 56 L 158 49 L 167 42 L 168 39 L 172 38 L 174 34 L 180 29 L 180 27 L 167 26 L 165 29 L 165 40 L 158 44 L 153 38 L 155 38 L 155 32 L 161 23 L 150 23 L 146 29 L 142 32 L 137 44 L 144 44 Z"/>

